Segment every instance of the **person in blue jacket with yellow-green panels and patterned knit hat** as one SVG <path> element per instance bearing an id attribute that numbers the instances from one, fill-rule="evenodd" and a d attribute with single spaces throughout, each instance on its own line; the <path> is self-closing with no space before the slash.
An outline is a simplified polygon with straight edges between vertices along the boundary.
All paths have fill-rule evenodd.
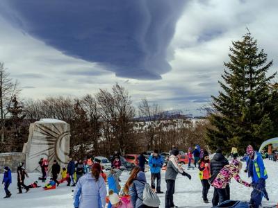
<path id="1" fill-rule="evenodd" d="M 261 205 L 263 196 L 268 200 L 268 193 L 265 189 L 265 180 L 268 178 L 268 173 L 265 170 L 261 153 L 255 151 L 251 145 L 247 146 L 246 153 L 248 155 L 246 171 L 248 172 L 248 177 L 252 177 L 252 186 L 254 187 L 250 204 L 257 208 Z"/>

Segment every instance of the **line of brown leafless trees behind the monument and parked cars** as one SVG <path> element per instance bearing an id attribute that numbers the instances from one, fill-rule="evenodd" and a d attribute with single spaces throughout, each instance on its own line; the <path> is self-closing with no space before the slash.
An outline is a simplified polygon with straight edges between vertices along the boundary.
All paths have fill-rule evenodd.
<path id="1" fill-rule="evenodd" d="M 6 69 L 2 69 L 8 78 Z M 169 118 L 146 98 L 134 107 L 129 92 L 118 84 L 110 91 L 99 89 L 97 94 L 81 98 L 58 96 L 20 102 L 17 83 L 8 87 L 10 91 L 2 105 L 1 153 L 22 151 L 29 125 L 44 118 L 70 124 L 70 153 L 76 157 L 108 156 L 114 150 L 125 154 L 156 148 L 162 152 L 173 144 L 183 150 L 197 143 L 205 145 L 208 120 L 193 123 L 181 115 Z"/>

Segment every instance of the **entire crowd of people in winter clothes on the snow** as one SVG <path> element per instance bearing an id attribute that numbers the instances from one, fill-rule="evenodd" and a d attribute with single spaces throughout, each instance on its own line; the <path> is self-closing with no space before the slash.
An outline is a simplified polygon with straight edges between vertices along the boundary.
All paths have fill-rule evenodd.
<path id="1" fill-rule="evenodd" d="M 199 169 L 199 180 L 202 184 L 202 198 L 204 203 L 209 203 L 208 190 L 213 187 L 213 198 L 211 199 L 213 207 L 220 205 L 222 202 L 230 199 L 229 183 L 234 178 L 238 183 L 245 187 L 252 187 L 250 206 L 257 208 L 261 205 L 263 197 L 268 200 L 268 193 L 265 189 L 265 180 L 268 174 L 263 164 L 261 153 L 257 152 L 252 146 L 247 146 L 247 166 L 245 172 L 248 177 L 252 178 L 252 182 L 243 181 L 239 173 L 243 167 L 243 163 L 237 160 L 238 153 L 235 147 L 231 150 L 232 160 L 228 160 L 222 154 L 221 148 L 216 150 L 213 158 L 209 159 L 208 152 L 199 146 L 195 146 L 194 150 L 188 149 L 188 168 L 193 166 Z M 172 148 L 170 157 L 167 161 L 165 172 L 165 208 L 177 207 L 174 204 L 174 190 L 177 175 L 181 174 L 191 180 L 191 175 L 184 171 L 179 164 L 180 151 L 177 148 Z M 151 184 L 147 183 L 145 175 L 145 164 L 149 165 L 151 173 Z M 48 162 L 47 159 L 40 159 L 40 167 L 42 177 L 40 180 L 45 182 L 47 179 Z M 44 189 L 55 189 L 60 182 L 67 182 L 68 186 L 74 187 L 74 208 L 104 208 L 108 203 L 108 208 L 146 208 L 159 207 L 159 194 L 163 194 L 161 190 L 161 168 L 163 167 L 164 159 L 158 154 L 158 150 L 154 150 L 148 161 L 144 153 L 138 157 L 138 166 L 133 168 L 129 179 L 125 182 L 124 187 L 120 186 L 120 155 L 115 151 L 111 159 L 111 170 L 107 175 L 104 173 L 100 161 L 88 158 L 85 161 L 79 159 L 74 162 L 70 158 L 67 168 L 62 170 L 56 160 L 51 166 L 51 180 L 44 186 Z M 58 180 L 58 175 L 61 179 Z M 23 163 L 19 163 L 17 168 L 17 187 L 19 193 L 22 193 L 22 188 L 27 191 L 31 188 L 36 188 L 38 182 L 34 182 L 26 186 L 24 184 L 25 177 L 28 173 L 24 168 Z M 11 170 L 9 167 L 4 168 L 3 184 L 6 191 L 5 198 L 10 198 L 12 193 L 8 190 L 12 182 Z M 108 185 L 108 193 L 106 189 Z M 108 195 L 108 196 L 107 196 Z"/>

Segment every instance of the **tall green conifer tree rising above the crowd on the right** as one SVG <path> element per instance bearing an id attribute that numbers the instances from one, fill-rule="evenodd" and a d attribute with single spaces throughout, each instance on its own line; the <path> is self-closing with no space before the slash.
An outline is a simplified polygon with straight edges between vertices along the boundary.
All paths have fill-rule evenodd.
<path id="1" fill-rule="evenodd" d="M 219 81 L 222 90 L 212 96 L 215 113 L 211 113 L 213 128 L 207 132 L 208 145 L 218 146 L 228 152 L 237 146 L 243 152 L 248 144 L 259 148 L 265 139 L 273 135 L 270 111 L 270 81 L 267 76 L 272 61 L 259 51 L 256 40 L 247 33 L 243 40 L 232 42 L 229 62 L 224 62 L 224 82 Z"/>

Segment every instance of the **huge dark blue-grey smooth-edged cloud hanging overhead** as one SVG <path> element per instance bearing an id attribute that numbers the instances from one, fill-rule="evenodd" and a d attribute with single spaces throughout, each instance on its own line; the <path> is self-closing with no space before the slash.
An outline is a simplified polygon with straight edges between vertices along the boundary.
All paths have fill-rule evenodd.
<path id="1" fill-rule="evenodd" d="M 159 79 L 186 0 L 1 0 L 0 15 L 45 44 L 116 76 Z"/>

